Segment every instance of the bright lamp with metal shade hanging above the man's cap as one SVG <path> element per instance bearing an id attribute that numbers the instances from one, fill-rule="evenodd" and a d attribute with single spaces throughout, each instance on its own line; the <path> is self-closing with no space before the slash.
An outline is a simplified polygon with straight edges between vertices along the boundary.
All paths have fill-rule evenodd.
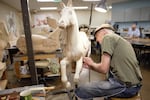
<path id="1" fill-rule="evenodd" d="M 98 12 L 103 12 L 106 13 L 107 12 L 107 7 L 106 7 L 106 0 L 101 0 L 95 7 L 95 10 Z"/>

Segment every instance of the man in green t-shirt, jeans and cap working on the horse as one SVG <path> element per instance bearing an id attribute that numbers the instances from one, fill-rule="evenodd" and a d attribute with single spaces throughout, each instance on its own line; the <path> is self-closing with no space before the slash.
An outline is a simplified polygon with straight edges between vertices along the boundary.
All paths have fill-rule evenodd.
<path id="1" fill-rule="evenodd" d="M 96 41 L 101 44 L 101 62 L 85 57 L 84 67 L 107 74 L 107 79 L 90 82 L 75 90 L 77 97 L 92 100 L 94 97 L 132 97 L 141 88 L 142 75 L 131 44 L 114 34 L 109 24 L 102 24 L 95 31 Z"/>

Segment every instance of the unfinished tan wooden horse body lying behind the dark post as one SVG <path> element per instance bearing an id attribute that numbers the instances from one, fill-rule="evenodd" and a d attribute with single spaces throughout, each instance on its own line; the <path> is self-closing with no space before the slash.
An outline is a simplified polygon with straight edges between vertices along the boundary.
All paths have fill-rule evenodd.
<path id="1" fill-rule="evenodd" d="M 39 34 L 32 34 L 32 43 L 33 43 L 33 51 L 34 53 L 50 53 L 60 48 L 59 43 L 59 34 L 60 29 L 55 25 L 56 22 L 54 19 L 47 18 L 49 26 L 53 26 L 55 30 L 53 32 L 49 32 L 48 36 L 43 36 Z M 17 40 L 16 46 L 23 54 L 27 54 L 26 49 L 26 40 L 25 36 L 21 35 Z"/>

